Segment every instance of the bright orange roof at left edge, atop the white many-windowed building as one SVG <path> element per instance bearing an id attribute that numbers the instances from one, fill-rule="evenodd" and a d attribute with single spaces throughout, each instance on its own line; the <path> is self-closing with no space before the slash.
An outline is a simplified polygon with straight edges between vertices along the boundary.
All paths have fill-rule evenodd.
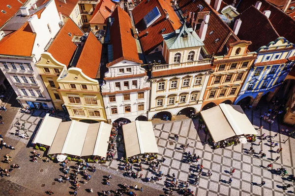
<path id="1" fill-rule="evenodd" d="M 0 54 L 14 56 L 31 56 L 36 33 L 32 32 L 29 23 L 6 35 L 0 41 Z"/>

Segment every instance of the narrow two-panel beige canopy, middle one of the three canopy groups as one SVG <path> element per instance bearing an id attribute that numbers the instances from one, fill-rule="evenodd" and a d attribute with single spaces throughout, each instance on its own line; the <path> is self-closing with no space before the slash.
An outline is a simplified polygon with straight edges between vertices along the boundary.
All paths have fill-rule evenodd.
<path id="1" fill-rule="evenodd" d="M 135 121 L 124 124 L 122 128 L 127 158 L 159 152 L 151 122 Z"/>

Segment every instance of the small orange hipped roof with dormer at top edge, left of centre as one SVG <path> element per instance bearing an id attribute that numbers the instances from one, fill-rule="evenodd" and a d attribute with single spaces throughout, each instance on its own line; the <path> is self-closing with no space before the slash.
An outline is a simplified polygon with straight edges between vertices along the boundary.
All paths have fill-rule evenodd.
<path id="1" fill-rule="evenodd" d="M 115 3 L 111 0 L 101 0 L 97 5 L 89 21 L 90 24 L 107 24 L 106 19 L 115 9 Z"/>

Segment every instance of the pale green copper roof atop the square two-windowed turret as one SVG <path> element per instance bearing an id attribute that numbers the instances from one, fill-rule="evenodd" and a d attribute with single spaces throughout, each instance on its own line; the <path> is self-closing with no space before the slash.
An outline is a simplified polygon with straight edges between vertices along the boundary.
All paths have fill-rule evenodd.
<path id="1" fill-rule="evenodd" d="M 179 29 L 162 34 L 168 49 L 184 49 L 190 47 L 204 46 L 193 28 L 187 28 L 185 23 Z"/>

